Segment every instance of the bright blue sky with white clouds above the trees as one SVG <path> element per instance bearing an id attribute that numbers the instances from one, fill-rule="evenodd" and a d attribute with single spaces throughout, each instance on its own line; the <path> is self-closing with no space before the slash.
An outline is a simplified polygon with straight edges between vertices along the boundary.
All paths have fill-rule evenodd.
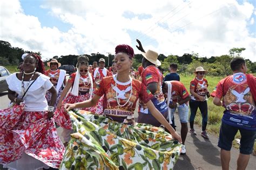
<path id="1" fill-rule="evenodd" d="M 60 55 L 114 54 L 118 44 L 135 53 L 136 39 L 144 49 L 164 55 L 228 54 L 256 61 L 256 1 L 0 1 L 0 40 L 12 47 Z"/>

